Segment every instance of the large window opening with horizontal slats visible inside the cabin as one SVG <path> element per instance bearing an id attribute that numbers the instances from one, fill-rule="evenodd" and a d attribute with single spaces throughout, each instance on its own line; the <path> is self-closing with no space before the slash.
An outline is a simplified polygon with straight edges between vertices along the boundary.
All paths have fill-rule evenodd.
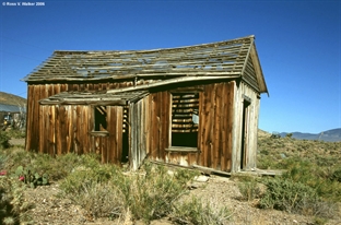
<path id="1" fill-rule="evenodd" d="M 199 128 L 199 94 L 173 93 L 172 146 L 197 147 Z"/>

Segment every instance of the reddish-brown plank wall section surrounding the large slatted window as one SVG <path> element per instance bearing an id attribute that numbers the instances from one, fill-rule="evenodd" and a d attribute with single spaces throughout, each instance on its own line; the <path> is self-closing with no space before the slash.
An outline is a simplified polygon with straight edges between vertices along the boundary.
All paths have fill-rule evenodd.
<path id="1" fill-rule="evenodd" d="M 224 171 L 232 168 L 232 126 L 235 82 L 202 85 L 199 94 L 199 132 L 197 151 L 166 151 L 170 147 L 172 90 L 146 98 L 145 141 L 154 161 L 200 165 Z"/>

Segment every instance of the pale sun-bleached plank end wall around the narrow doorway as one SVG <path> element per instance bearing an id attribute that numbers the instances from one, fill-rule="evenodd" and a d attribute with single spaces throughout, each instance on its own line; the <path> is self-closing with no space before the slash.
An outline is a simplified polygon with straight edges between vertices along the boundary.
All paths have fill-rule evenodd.
<path id="1" fill-rule="evenodd" d="M 258 133 L 258 114 L 259 114 L 259 97 L 249 85 L 240 82 L 235 88 L 234 97 L 234 128 L 233 128 L 233 165 L 232 171 L 239 171 L 242 168 L 242 139 L 243 139 L 243 104 L 244 97 L 247 96 L 250 99 L 248 106 L 248 115 L 246 122 L 248 125 L 248 133 L 246 135 L 246 158 L 245 169 L 251 169 L 256 167 L 256 154 L 257 154 L 257 133 Z"/>

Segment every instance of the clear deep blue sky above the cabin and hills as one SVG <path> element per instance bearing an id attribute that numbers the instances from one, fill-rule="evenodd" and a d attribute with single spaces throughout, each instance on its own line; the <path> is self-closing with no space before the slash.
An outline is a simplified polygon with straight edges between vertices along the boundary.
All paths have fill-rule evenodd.
<path id="1" fill-rule="evenodd" d="M 270 92 L 261 97 L 259 128 L 341 128 L 341 1 L 43 2 L 0 5 L 1 92 L 26 97 L 20 80 L 54 50 L 153 49 L 256 35 Z"/>

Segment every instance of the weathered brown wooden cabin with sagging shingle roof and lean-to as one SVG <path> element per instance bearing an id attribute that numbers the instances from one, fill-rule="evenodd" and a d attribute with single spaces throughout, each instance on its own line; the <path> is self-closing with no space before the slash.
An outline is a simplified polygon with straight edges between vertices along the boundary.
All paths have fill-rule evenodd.
<path id="1" fill-rule="evenodd" d="M 153 50 L 55 51 L 27 82 L 26 150 L 220 171 L 256 167 L 255 37 Z"/>

